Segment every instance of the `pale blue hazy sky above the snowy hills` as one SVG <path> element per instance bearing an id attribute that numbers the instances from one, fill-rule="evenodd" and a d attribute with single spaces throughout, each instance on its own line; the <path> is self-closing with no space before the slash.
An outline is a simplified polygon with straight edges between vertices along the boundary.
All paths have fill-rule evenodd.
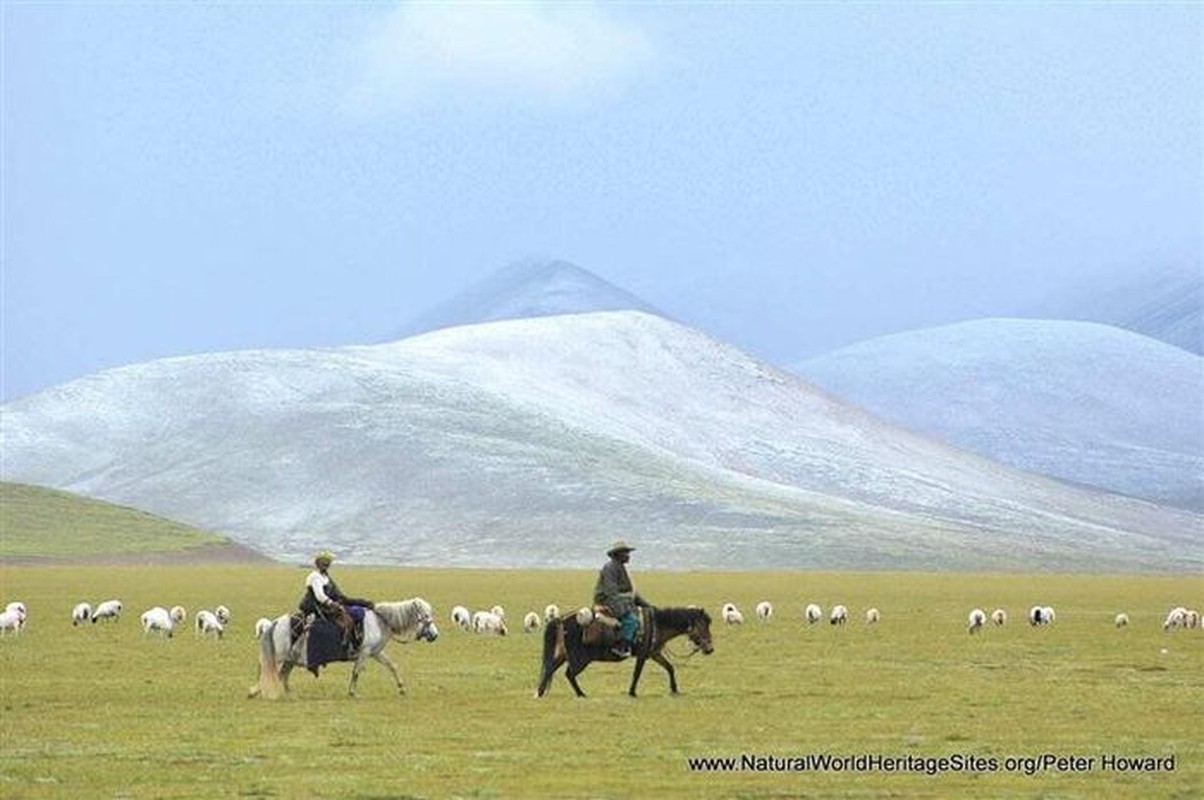
<path id="1" fill-rule="evenodd" d="M 0 5 L 0 400 L 561 259 L 779 363 L 1202 269 L 1199 4 Z"/>

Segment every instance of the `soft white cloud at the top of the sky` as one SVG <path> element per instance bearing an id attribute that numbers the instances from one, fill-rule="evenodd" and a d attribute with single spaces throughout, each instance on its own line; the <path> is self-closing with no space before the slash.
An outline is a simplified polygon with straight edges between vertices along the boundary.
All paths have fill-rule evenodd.
<path id="1" fill-rule="evenodd" d="M 654 57 L 638 29 L 594 4 L 406 2 L 361 43 L 352 104 L 371 112 L 452 94 L 541 102 L 627 86 Z"/>

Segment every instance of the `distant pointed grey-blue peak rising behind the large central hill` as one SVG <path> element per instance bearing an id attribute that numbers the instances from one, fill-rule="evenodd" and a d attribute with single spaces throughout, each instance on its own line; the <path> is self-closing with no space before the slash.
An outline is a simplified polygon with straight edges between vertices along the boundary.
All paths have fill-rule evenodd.
<path id="1" fill-rule="evenodd" d="M 594 311 L 644 311 L 667 316 L 568 261 L 527 260 L 494 272 L 394 331 L 388 341 L 458 325 Z"/>

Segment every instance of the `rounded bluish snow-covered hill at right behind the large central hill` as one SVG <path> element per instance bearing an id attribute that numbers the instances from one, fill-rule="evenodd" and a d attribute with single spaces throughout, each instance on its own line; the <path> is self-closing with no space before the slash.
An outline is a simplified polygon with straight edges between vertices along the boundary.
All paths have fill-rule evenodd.
<path id="1" fill-rule="evenodd" d="M 1005 464 L 1204 510 L 1204 358 L 1164 342 L 1096 323 L 980 319 L 793 370 Z"/>

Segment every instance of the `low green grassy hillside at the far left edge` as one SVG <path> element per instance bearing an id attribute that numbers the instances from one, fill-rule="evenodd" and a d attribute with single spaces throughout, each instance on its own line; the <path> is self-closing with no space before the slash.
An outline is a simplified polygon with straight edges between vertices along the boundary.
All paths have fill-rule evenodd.
<path id="1" fill-rule="evenodd" d="M 0 482 L 0 558 L 71 559 L 181 552 L 226 540 L 136 508 Z"/>

